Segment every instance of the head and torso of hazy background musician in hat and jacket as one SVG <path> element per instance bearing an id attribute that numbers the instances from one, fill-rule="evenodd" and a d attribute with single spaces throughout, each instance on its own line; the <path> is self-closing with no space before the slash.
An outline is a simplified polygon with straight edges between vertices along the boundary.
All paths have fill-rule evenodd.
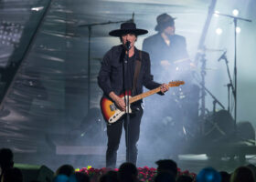
<path id="1" fill-rule="evenodd" d="M 162 68 L 167 69 L 168 72 L 174 72 L 173 68 L 176 69 L 176 66 L 180 66 L 180 63 L 189 62 L 186 39 L 182 35 L 175 34 L 175 19 L 167 14 L 158 15 L 156 18 L 157 25 L 155 26 L 158 33 L 145 38 L 143 43 L 143 50 L 148 52 L 151 57 L 154 67 L 153 73 L 162 79 L 166 78 L 166 76 L 161 76 Z"/>

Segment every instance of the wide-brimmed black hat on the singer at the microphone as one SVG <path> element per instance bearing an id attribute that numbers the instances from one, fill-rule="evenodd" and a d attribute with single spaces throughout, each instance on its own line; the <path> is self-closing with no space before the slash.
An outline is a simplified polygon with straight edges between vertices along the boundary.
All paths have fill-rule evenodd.
<path id="1" fill-rule="evenodd" d="M 126 22 L 126 23 L 123 23 L 120 26 L 120 29 L 112 30 L 109 33 L 109 35 L 121 36 L 121 35 L 124 35 L 124 34 L 130 34 L 130 33 L 132 33 L 134 35 L 144 35 L 144 34 L 147 34 L 148 31 L 144 30 L 144 29 L 136 28 L 136 25 L 133 22 Z"/>

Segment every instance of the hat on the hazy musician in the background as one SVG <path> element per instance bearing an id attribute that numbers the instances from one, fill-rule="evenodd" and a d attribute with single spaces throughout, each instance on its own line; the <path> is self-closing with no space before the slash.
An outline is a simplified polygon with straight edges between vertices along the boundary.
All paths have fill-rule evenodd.
<path id="1" fill-rule="evenodd" d="M 175 25 L 175 17 L 167 14 L 158 15 L 156 18 L 157 25 L 155 26 L 156 31 L 161 31 L 165 29 L 167 26 L 174 26 Z"/>

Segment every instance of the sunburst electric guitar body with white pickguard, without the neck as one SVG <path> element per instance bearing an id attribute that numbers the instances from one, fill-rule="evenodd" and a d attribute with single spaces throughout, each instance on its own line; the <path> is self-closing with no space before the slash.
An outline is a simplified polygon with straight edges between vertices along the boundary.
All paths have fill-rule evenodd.
<path id="1" fill-rule="evenodd" d="M 124 94 L 121 95 L 124 99 Z M 129 95 L 128 95 L 129 96 Z M 126 95 L 126 98 L 128 97 Z M 131 98 L 131 96 L 129 96 Z M 128 107 L 126 106 L 126 111 L 128 111 Z M 115 106 L 114 102 L 112 100 L 102 97 L 101 98 L 101 113 L 104 119 L 108 124 L 115 123 L 118 119 L 120 119 L 125 113 L 125 111 L 121 111 L 117 106 Z M 129 113 L 132 113 L 131 107 L 129 106 Z"/>

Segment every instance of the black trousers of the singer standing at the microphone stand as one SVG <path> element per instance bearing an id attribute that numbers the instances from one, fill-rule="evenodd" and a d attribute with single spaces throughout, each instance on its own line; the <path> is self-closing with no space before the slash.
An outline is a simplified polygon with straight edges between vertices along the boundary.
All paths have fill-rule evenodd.
<path id="1" fill-rule="evenodd" d="M 129 143 L 127 144 L 127 138 L 125 135 L 126 141 L 126 161 L 131 162 L 136 165 L 137 162 L 137 142 L 140 136 L 140 124 L 143 116 L 143 108 L 142 106 L 133 106 L 133 114 L 130 115 L 130 124 L 128 126 L 129 129 Z M 122 130 L 124 126 L 125 133 L 127 132 L 126 125 L 126 116 L 123 119 L 117 121 L 112 125 L 107 126 L 107 135 L 108 135 L 108 148 L 106 151 L 106 167 L 114 168 L 116 166 L 116 157 L 117 150 L 120 144 L 120 139 L 122 136 Z M 130 159 L 128 158 L 128 148 L 130 150 Z"/>

